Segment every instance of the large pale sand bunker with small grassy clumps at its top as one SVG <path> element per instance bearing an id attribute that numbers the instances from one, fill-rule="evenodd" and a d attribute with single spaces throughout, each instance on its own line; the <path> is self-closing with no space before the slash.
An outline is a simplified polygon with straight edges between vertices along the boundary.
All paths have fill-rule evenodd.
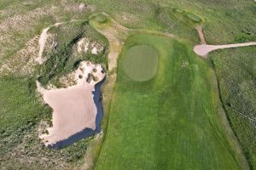
<path id="1" fill-rule="evenodd" d="M 77 85 L 69 88 L 47 90 L 37 82 L 45 103 L 53 109 L 53 127 L 47 129 L 48 133 L 39 136 L 47 146 L 68 139 L 85 128 L 96 129 L 97 108 L 93 92 L 105 73 L 101 65 L 83 61 L 75 75 Z"/>

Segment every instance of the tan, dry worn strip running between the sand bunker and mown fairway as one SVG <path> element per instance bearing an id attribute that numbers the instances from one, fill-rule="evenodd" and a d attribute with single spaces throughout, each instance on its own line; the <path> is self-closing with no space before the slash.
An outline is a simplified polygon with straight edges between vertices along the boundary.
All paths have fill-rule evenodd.
<path id="1" fill-rule="evenodd" d="M 119 25 L 118 22 L 113 20 L 108 14 L 102 13 L 108 17 L 109 26 L 102 28 L 99 26 L 96 21 L 90 20 L 90 26 L 94 27 L 96 31 L 100 32 L 104 37 L 108 39 L 109 42 L 109 53 L 108 53 L 108 79 L 104 82 L 103 86 L 103 103 L 105 111 L 108 111 L 108 107 L 113 94 L 113 87 L 117 77 L 117 65 L 118 58 L 121 50 L 123 48 L 124 41 L 128 36 L 128 32 L 131 31 L 124 26 Z M 108 116 L 108 112 L 104 112 L 105 116 Z M 107 114 L 107 115 L 106 115 Z M 106 130 L 106 129 L 103 129 Z M 102 132 L 104 133 L 104 131 Z M 92 143 L 90 143 L 90 147 L 86 151 L 84 156 L 84 165 L 81 169 L 89 170 L 94 166 L 94 161 L 97 158 L 96 152 L 101 150 L 101 146 L 103 142 L 103 135 L 98 136 Z"/>

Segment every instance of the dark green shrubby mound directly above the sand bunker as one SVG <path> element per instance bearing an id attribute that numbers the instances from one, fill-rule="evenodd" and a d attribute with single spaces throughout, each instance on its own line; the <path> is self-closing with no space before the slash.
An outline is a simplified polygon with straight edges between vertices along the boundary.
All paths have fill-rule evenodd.
<path id="1" fill-rule="evenodd" d="M 56 35 L 55 39 L 58 45 L 55 49 L 51 49 L 48 54 L 45 54 L 48 55 L 48 59 L 40 68 L 40 81 L 43 86 L 50 82 L 57 88 L 61 87 L 60 77 L 74 71 L 81 60 L 90 60 L 107 67 L 108 42 L 105 37 L 93 30 L 87 21 L 59 26 L 50 30 L 50 33 Z M 91 54 L 89 50 L 78 53 L 76 46 L 82 37 L 101 41 L 102 51 L 99 54 Z"/>

